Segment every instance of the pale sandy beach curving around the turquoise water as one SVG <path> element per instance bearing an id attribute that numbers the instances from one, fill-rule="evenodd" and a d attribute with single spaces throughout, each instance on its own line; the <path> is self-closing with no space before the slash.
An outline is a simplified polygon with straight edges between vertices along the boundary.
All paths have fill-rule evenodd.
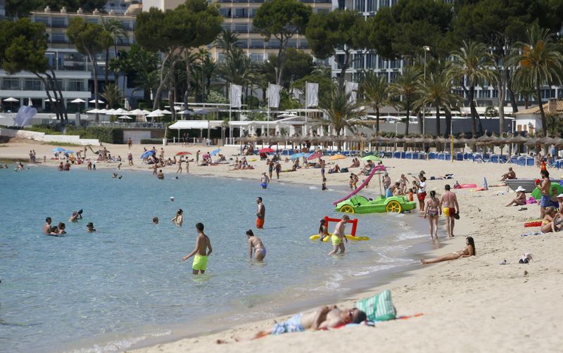
<path id="1" fill-rule="evenodd" d="M 127 167 L 126 145 L 105 144 L 111 155 L 120 155 L 125 162 L 122 169 L 149 170 L 141 165 L 139 156 L 143 147 L 134 145 L 133 167 Z M 0 144 L 0 160 L 28 159 L 28 153 L 34 149 L 37 160 L 46 155 L 46 165 L 55 168 L 56 160 L 51 150 L 55 146 L 13 139 Z M 156 146 L 160 150 L 162 146 Z M 80 147 L 68 147 L 75 149 Z M 95 147 L 93 147 L 96 150 Z M 214 148 L 202 146 L 164 146 L 165 157 L 172 157 L 179 151 L 189 151 L 195 158 L 196 150 L 202 153 Z M 222 153 L 231 158 L 239 148 L 222 148 Z M 88 150 L 87 157 L 91 157 Z M 252 170 L 232 171 L 229 165 L 196 167 L 190 165 L 190 174 L 214 174 L 220 177 L 255 179 L 259 183 L 262 172 L 267 171 L 265 162 L 251 161 Z M 339 160 L 341 167 L 349 167 L 351 158 Z M 98 162 L 97 168 L 117 169 L 117 163 Z M 498 184 L 500 176 L 512 165 L 482 164 L 474 162 L 445 162 L 423 160 L 384 159 L 391 180 L 400 174 L 418 174 L 420 170 L 426 176 L 455 174 L 460 184 L 483 184 L 486 177 L 489 185 Z M 13 166 L 13 164 L 12 164 Z M 331 165 L 329 165 L 330 167 Z M 282 163 L 282 169 L 289 169 L 291 163 Z M 539 169 L 535 167 L 513 166 L 519 178 L 538 178 Z M 86 168 L 85 165 L 72 168 Z M 165 167 L 166 177 L 173 177 L 177 167 Z M 351 169 L 350 172 L 358 172 Z M 552 177 L 562 177 L 563 171 L 550 169 Z M 347 173 L 327 174 L 329 188 L 348 186 Z M 407 175 L 410 180 L 412 178 Z M 274 176 L 275 178 L 275 176 Z M 319 186 L 319 169 L 299 169 L 297 172 L 284 172 L 280 181 Z M 361 179 L 360 179 L 361 181 Z M 427 190 L 443 191 L 451 180 L 429 180 Z M 272 182 L 276 182 L 275 180 Z M 319 191 L 321 192 L 321 191 Z M 362 191 L 363 193 L 363 191 Z M 365 194 L 379 193 L 377 182 Z M 538 219 L 538 205 L 505 207 L 514 198 L 515 193 L 507 192 L 506 187 L 492 187 L 488 191 L 456 190 L 460 203 L 460 217 L 456 222 L 455 237 L 448 239 L 443 227 L 438 232 L 439 242 L 444 245 L 426 257 L 443 255 L 464 247 L 464 237 L 472 236 L 476 243 L 476 256 L 457 259 L 440 264 L 413 264 L 408 275 L 367 293 L 350 296 L 341 306 L 352 306 L 353 301 L 367 295 L 389 289 L 398 315 L 422 316 L 407 320 L 377 323 L 376 328 L 357 327 L 339 330 L 294 333 L 269 336 L 251 342 L 235 342 L 234 338 L 247 338 L 255 330 L 272 326 L 271 319 L 261 322 L 246 323 L 219 333 L 200 335 L 196 338 L 184 338 L 176 342 L 167 342 L 153 347 L 145 347 L 135 352 L 339 352 L 343 350 L 382 350 L 384 352 L 514 352 L 533 350 L 533 352 L 559 351 L 563 342 L 560 338 L 562 298 L 559 285 L 563 283 L 563 245 L 560 233 L 547 233 L 537 236 L 520 236 L 538 230 L 524 228 L 524 222 Z M 500 194 L 499 193 L 503 193 Z M 412 215 L 412 217 L 415 217 Z M 430 236 L 428 237 L 430 242 Z M 522 253 L 531 252 L 533 262 L 518 264 Z M 506 259 L 507 264 L 499 262 Z M 319 305 L 329 304 L 319 302 Z M 281 320 L 284 318 L 279 318 Z M 217 340 L 225 342 L 218 345 Z"/>

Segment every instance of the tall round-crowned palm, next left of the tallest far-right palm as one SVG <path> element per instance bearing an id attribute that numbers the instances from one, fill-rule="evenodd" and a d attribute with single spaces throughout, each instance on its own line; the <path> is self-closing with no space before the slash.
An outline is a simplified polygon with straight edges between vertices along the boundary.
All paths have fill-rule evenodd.
<path id="1" fill-rule="evenodd" d="M 476 136 L 477 127 L 476 123 L 479 122 L 479 132 L 483 133 L 483 126 L 477 109 L 475 108 L 475 86 L 484 86 L 486 82 L 495 82 L 496 75 L 495 60 L 489 53 L 488 48 L 483 43 L 475 41 L 463 41 L 463 45 L 458 51 L 452 53 L 453 62 L 448 69 L 448 74 L 454 79 L 460 80 L 463 90 L 469 97 L 469 107 L 471 109 L 471 116 L 473 120 L 473 136 Z M 464 84 L 464 79 L 469 83 L 469 90 Z"/>

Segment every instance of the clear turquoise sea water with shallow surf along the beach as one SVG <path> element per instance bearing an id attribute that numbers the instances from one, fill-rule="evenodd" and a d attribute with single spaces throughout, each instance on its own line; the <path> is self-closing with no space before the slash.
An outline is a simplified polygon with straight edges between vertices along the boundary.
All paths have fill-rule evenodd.
<path id="1" fill-rule="evenodd" d="M 308 237 L 324 215 L 339 217 L 331 202 L 341 193 L 277 181 L 262 191 L 258 181 L 120 174 L 0 170 L 2 351 L 112 351 L 265 319 L 312 297 L 339 297 L 350 278 L 412 263 L 409 250 L 427 242 L 416 214 L 362 215 L 358 233 L 372 240 L 349 242 L 346 255 L 329 257 L 330 243 Z M 245 236 L 259 195 L 267 207 L 265 229 L 255 231 L 267 248 L 263 264 L 248 259 Z M 84 219 L 70 224 L 80 208 Z M 170 222 L 178 208 L 181 229 Z M 68 234 L 44 236 L 46 216 L 65 222 Z M 99 232 L 86 233 L 87 222 Z M 214 250 L 198 278 L 191 259 L 180 261 L 194 248 L 196 222 L 205 224 Z"/>

